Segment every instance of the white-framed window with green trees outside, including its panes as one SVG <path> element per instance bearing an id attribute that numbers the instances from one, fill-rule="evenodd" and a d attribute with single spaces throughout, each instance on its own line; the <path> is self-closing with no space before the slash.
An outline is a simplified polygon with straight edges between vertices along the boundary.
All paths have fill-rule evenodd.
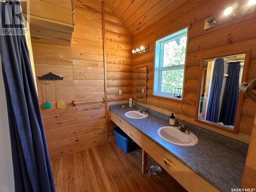
<path id="1" fill-rule="evenodd" d="M 187 28 L 156 41 L 154 95 L 182 99 Z"/>

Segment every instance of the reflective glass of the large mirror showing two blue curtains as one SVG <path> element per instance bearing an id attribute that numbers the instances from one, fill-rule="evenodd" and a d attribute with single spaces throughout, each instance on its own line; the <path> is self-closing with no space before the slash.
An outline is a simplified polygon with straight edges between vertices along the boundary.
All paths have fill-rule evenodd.
<path id="1" fill-rule="evenodd" d="M 203 62 L 198 119 L 233 130 L 245 54 Z"/>

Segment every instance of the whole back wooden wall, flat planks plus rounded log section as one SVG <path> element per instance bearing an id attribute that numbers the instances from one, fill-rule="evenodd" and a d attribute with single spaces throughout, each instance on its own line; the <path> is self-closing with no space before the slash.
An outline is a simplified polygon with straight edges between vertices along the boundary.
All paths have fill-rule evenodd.
<path id="1" fill-rule="evenodd" d="M 75 31 L 71 47 L 33 42 L 36 76 L 53 72 L 64 77 L 47 82 L 52 109 L 43 109 L 46 93 L 37 80 L 39 102 L 51 158 L 68 155 L 106 143 L 104 102 L 73 106 L 72 100 L 93 101 L 105 98 L 104 50 L 101 1 L 75 0 Z M 132 36 L 105 11 L 106 69 L 109 101 L 120 101 L 131 94 Z M 130 87 L 129 87 L 130 86 Z M 117 96 L 117 90 L 123 95 Z M 56 109 L 63 100 L 65 109 Z M 112 131 L 110 131 L 112 135 Z"/>

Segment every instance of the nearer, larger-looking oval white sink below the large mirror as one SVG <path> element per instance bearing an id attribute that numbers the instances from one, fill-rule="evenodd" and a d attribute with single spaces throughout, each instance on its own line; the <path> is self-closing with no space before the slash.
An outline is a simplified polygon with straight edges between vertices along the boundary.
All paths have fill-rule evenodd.
<path id="1" fill-rule="evenodd" d="M 163 126 L 157 130 L 157 135 L 167 143 L 189 147 L 195 146 L 198 143 L 198 138 L 196 135 L 190 132 L 190 134 L 185 134 L 178 130 L 175 126 Z"/>

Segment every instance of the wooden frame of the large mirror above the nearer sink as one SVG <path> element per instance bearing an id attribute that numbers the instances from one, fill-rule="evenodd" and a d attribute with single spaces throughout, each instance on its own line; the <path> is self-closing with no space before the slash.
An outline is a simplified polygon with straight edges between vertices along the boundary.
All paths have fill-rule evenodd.
<path id="1" fill-rule="evenodd" d="M 219 54 L 219 55 L 213 55 L 213 56 L 210 56 L 210 57 L 203 57 L 203 58 L 200 59 L 199 76 L 198 76 L 199 83 L 198 83 L 198 89 L 197 89 L 195 121 L 200 122 L 200 123 L 204 123 L 204 124 L 207 124 L 207 125 L 210 125 L 210 126 L 214 126 L 214 127 L 219 128 L 221 130 L 225 130 L 225 131 L 228 131 L 228 132 L 238 134 L 240 119 L 241 119 L 241 114 L 242 114 L 242 106 L 243 106 L 243 101 L 244 101 L 244 94 L 242 93 L 242 91 L 239 91 L 238 106 L 237 106 L 237 112 L 236 112 L 236 120 L 234 122 L 234 129 L 233 130 L 228 129 L 224 125 L 222 126 L 222 125 L 218 125 L 218 124 L 215 124 L 215 123 L 211 123 L 211 122 L 206 121 L 206 120 L 198 119 L 198 112 L 199 112 L 199 102 L 200 102 L 200 93 L 201 93 L 201 83 L 202 83 L 202 72 L 203 72 L 204 60 L 212 59 L 212 58 L 218 58 L 218 57 L 225 57 L 225 56 L 230 56 L 230 55 L 239 55 L 239 54 L 245 54 L 244 69 L 243 69 L 242 80 L 241 80 L 241 82 L 245 82 L 247 80 L 247 75 L 248 75 L 249 66 L 250 66 L 251 50 L 224 53 L 224 54 Z"/>

